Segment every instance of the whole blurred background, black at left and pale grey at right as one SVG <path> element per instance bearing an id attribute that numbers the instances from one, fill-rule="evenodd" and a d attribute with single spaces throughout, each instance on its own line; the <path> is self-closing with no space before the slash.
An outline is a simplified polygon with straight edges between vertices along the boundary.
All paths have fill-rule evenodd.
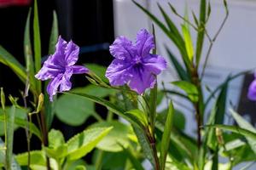
<path id="1" fill-rule="evenodd" d="M 159 2 L 162 7 L 165 7 L 167 2 L 171 2 L 179 14 L 185 13 L 185 7 L 189 9 L 189 12 L 193 10 L 195 14 L 198 14 L 200 0 L 137 0 L 137 2 L 143 4 L 144 7 L 147 7 L 153 14 L 161 18 L 156 2 Z M 22 64 L 24 64 L 24 29 L 28 10 L 32 3 L 31 0 L 0 0 L 0 45 L 11 54 L 14 54 Z M 220 82 L 224 82 L 230 73 L 236 74 L 239 71 L 253 70 L 256 66 L 256 17 L 253 17 L 256 16 L 256 2 L 251 0 L 230 0 L 228 3 L 230 16 L 213 45 L 212 54 L 207 65 L 206 77 L 203 80 L 204 84 L 210 88 L 216 88 Z M 79 64 L 96 63 L 105 66 L 109 65 L 112 57 L 108 52 L 108 45 L 113 42 L 114 37 L 125 35 L 135 39 L 138 30 L 141 28 L 150 30 L 152 25 L 151 20 L 131 0 L 38 0 L 43 56 L 48 53 L 53 10 L 56 11 L 58 16 L 61 37 L 67 41 L 72 38 L 73 42 L 76 42 L 81 47 Z M 172 20 L 175 21 L 177 26 L 181 24 L 182 20 L 178 19 L 170 10 L 167 10 L 167 6 L 166 11 L 169 11 Z M 191 13 L 189 13 L 189 18 L 193 20 Z M 215 34 L 223 19 L 223 1 L 212 1 L 212 14 L 207 26 L 210 35 Z M 195 32 L 192 31 L 191 33 L 195 39 Z M 158 27 L 156 27 L 156 37 L 159 54 L 167 56 L 163 46 L 166 44 L 172 53 L 177 56 L 177 59 L 180 59 L 177 48 L 174 48 L 172 42 L 169 42 Z M 206 56 L 208 45 L 205 43 L 204 56 Z M 168 60 L 167 57 L 166 59 Z M 160 80 L 171 82 L 177 79 L 175 74 L 172 66 L 169 66 L 168 71 L 161 75 Z M 84 77 L 73 77 L 73 85 L 83 86 L 85 85 L 83 80 Z M 247 86 L 252 80 L 253 75 L 248 74 L 232 81 L 228 94 L 230 101 L 227 103 L 228 105 L 236 105 L 238 112 L 246 116 L 247 120 L 255 125 L 256 106 L 253 102 L 247 100 Z M 20 89 L 23 89 L 23 84 L 7 66 L 1 64 L 0 87 L 4 87 L 6 94 L 19 96 Z M 185 113 L 187 119 L 194 119 L 193 115 L 186 114 L 188 111 L 183 108 L 183 105 L 186 105 L 185 101 L 175 98 L 174 100 L 177 100 L 176 107 Z M 183 105 L 179 105 L 179 103 L 183 103 Z M 187 107 L 189 109 L 192 108 L 190 105 L 187 105 Z M 211 108 L 208 109 L 210 110 Z M 90 121 L 93 120 L 88 122 Z M 228 114 L 225 122 L 233 123 L 230 122 Z M 65 137 L 67 139 L 73 133 L 78 133 L 84 129 L 84 125 L 75 128 L 69 127 L 57 119 L 55 119 L 53 125 L 55 128 L 62 129 L 62 132 L 66 132 Z M 195 135 L 195 123 L 192 121 L 187 122 L 185 130 L 190 135 Z M 24 130 L 21 129 L 15 133 L 15 138 L 19 137 L 20 141 L 16 140 L 19 144 L 15 144 L 15 152 L 26 150 L 26 147 L 23 147 L 24 150 L 22 150 L 22 142 L 26 146 Z M 33 147 L 37 148 L 39 145 L 35 144 Z"/>

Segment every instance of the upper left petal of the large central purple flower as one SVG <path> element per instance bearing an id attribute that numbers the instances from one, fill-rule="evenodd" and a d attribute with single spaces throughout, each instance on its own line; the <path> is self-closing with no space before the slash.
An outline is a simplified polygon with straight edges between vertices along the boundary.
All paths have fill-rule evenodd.
<path id="1" fill-rule="evenodd" d="M 136 48 L 132 45 L 132 42 L 126 37 L 118 37 L 113 44 L 109 47 L 110 54 L 116 59 L 132 59 L 136 54 Z"/>

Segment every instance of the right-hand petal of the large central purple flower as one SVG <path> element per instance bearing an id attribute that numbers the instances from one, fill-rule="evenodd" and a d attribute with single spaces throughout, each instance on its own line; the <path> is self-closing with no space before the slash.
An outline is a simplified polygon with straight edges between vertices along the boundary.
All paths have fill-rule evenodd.
<path id="1" fill-rule="evenodd" d="M 143 58 L 144 68 L 149 72 L 159 75 L 161 71 L 166 70 L 167 64 L 166 59 L 160 55 L 148 54 L 147 57 Z"/>

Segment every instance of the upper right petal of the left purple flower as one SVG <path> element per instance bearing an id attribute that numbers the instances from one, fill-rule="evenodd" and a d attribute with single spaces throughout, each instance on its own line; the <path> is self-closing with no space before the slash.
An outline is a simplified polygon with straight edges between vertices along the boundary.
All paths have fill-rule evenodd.
<path id="1" fill-rule="evenodd" d="M 67 43 L 65 49 L 65 60 L 67 65 L 74 65 L 79 59 L 79 46 L 77 46 L 72 41 Z"/>

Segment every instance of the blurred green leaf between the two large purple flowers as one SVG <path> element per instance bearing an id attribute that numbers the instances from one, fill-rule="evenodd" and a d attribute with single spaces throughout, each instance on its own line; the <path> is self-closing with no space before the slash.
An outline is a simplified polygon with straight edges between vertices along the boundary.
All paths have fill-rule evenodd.
<path id="1" fill-rule="evenodd" d="M 103 82 L 108 82 L 108 78 L 105 77 L 107 68 L 102 65 L 96 65 L 94 63 L 85 63 L 84 66 L 90 71 L 93 71 L 98 77 L 102 79 Z"/>

